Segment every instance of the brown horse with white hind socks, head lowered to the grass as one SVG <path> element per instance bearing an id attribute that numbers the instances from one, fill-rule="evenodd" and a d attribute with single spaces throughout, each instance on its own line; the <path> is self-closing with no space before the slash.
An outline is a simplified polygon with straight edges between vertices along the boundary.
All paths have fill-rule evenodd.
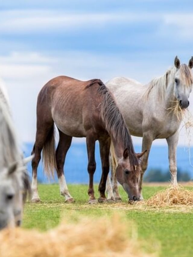
<path id="1" fill-rule="evenodd" d="M 54 124 L 59 130 L 59 144 L 55 151 Z M 57 171 L 60 193 L 73 202 L 68 192 L 63 166 L 72 137 L 86 137 L 89 173 L 89 203 L 96 203 L 93 175 L 96 169 L 95 141 L 99 140 L 102 176 L 99 202 L 106 201 L 105 188 L 109 173 L 111 140 L 118 158 L 116 177 L 130 200 L 139 199 L 139 157 L 134 153 L 131 136 L 116 102 L 101 80 L 80 81 L 60 76 L 41 89 L 37 99 L 36 141 L 32 153 L 32 202 L 39 202 L 37 166 L 43 149 L 45 172 Z"/>

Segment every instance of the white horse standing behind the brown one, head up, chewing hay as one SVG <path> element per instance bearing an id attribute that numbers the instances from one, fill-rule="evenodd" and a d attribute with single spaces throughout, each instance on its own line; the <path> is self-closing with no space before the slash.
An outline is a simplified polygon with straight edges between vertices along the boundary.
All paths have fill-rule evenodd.
<path id="1" fill-rule="evenodd" d="M 106 83 L 115 97 L 131 135 L 143 137 L 142 151 L 147 150 L 141 161 L 142 173 L 139 182 L 141 200 L 143 199 L 142 178 L 147 169 L 151 144 L 155 139 L 166 138 L 171 180 L 173 185 L 177 185 L 176 149 L 182 121 L 179 109 L 185 109 L 189 105 L 188 98 L 193 83 L 192 67 L 193 57 L 187 66 L 180 64 L 176 56 L 174 67 L 145 86 L 124 77 L 114 78 Z M 116 158 L 112 150 L 111 155 L 115 163 Z M 108 176 L 106 191 L 108 199 L 121 200 L 114 168 L 111 165 L 112 186 Z"/>

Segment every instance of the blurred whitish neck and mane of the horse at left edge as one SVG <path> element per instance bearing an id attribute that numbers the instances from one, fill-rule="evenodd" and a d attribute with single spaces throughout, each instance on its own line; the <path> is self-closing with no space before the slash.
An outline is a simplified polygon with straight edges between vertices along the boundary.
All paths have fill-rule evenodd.
<path id="1" fill-rule="evenodd" d="M 7 166 L 10 162 L 20 160 L 20 152 L 14 132 L 7 98 L 0 89 L 0 149 L 1 164 Z"/>

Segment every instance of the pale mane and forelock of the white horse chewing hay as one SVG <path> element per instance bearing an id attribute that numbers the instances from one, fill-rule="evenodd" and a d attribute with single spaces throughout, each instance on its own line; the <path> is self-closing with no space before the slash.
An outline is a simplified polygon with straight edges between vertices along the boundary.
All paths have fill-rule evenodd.
<path id="1" fill-rule="evenodd" d="M 176 71 L 176 67 L 172 67 L 168 69 L 163 76 L 151 80 L 150 83 L 147 85 L 147 90 L 143 96 L 147 99 L 151 90 L 155 89 L 157 98 L 163 101 L 166 95 L 167 76 L 168 74 L 171 74 L 171 76 L 174 79 L 175 71 Z M 179 67 L 179 71 L 180 71 L 180 78 L 185 82 L 185 85 L 190 86 L 193 82 L 190 68 L 186 64 L 181 64 Z"/>

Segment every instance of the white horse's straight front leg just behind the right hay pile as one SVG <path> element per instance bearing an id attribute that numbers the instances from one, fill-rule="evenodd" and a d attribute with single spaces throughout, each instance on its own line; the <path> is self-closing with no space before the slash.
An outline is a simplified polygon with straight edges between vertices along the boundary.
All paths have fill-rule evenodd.
<path id="1" fill-rule="evenodd" d="M 168 155 L 169 155 L 169 170 L 171 174 L 172 184 L 177 186 L 177 164 L 176 164 L 176 150 L 179 139 L 179 131 L 173 136 L 166 138 L 168 143 Z"/>

